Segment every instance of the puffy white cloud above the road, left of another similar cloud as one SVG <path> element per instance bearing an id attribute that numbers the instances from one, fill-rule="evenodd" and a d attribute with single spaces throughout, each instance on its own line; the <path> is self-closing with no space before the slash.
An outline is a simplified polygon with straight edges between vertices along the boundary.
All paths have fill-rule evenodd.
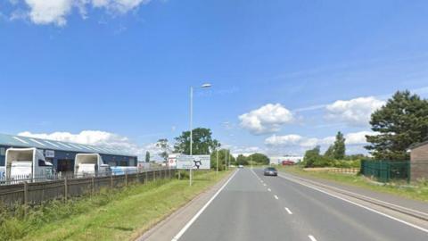
<path id="1" fill-rule="evenodd" d="M 292 112 L 282 104 L 266 104 L 239 116 L 241 126 L 256 135 L 276 132 L 293 119 Z"/>

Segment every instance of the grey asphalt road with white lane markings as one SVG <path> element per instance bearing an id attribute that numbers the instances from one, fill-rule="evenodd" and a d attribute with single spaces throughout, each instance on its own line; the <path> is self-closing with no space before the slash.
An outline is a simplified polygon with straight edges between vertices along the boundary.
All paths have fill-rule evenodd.
<path id="1" fill-rule="evenodd" d="M 238 170 L 180 241 L 428 240 L 428 233 L 262 170 Z"/>

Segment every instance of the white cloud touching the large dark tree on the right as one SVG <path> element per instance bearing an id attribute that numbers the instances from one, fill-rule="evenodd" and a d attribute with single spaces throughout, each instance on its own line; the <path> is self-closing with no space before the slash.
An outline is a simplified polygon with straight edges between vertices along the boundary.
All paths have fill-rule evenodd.
<path id="1" fill-rule="evenodd" d="M 343 121 L 350 126 L 366 126 L 370 115 L 385 104 L 384 101 L 373 96 L 359 97 L 348 101 L 338 100 L 328 104 L 326 109 L 327 120 Z"/>

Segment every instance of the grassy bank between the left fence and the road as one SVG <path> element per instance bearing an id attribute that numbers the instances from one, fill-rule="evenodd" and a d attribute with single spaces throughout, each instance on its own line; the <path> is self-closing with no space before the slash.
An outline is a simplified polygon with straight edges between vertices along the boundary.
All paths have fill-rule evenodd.
<path id="1" fill-rule="evenodd" d="M 63 204 L 50 202 L 24 215 L 0 212 L 0 240 L 133 240 L 159 220 L 226 176 L 215 171 L 188 180 L 159 180 L 116 192 L 104 191 Z"/>

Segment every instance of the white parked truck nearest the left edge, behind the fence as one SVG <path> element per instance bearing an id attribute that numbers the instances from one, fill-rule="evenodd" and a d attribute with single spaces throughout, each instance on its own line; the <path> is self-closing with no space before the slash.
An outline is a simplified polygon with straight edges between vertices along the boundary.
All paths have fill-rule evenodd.
<path id="1" fill-rule="evenodd" d="M 9 148 L 4 162 L 6 182 L 45 181 L 53 179 L 53 165 L 37 148 Z"/>

